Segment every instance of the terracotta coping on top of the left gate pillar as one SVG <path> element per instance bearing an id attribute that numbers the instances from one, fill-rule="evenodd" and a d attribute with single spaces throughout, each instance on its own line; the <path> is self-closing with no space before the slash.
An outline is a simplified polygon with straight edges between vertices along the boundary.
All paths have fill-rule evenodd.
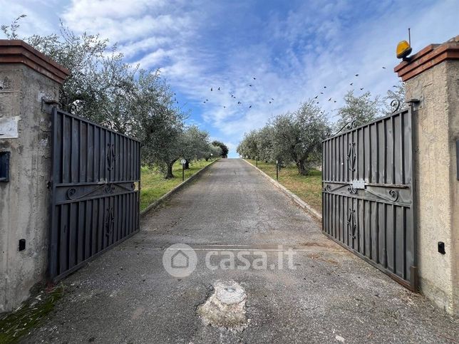
<path id="1" fill-rule="evenodd" d="M 20 40 L 0 39 L 1 63 L 24 63 L 34 71 L 60 84 L 70 75 L 67 68 Z"/>

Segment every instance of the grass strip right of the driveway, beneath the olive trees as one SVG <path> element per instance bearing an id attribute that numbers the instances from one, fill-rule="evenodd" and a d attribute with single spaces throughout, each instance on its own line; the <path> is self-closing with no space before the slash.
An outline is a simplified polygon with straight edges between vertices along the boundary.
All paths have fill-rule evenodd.
<path id="1" fill-rule="evenodd" d="M 255 160 L 246 160 L 255 165 Z M 275 164 L 259 161 L 258 168 L 276 179 Z M 309 175 L 301 176 L 296 166 L 283 167 L 279 172 L 279 183 L 317 211 L 322 211 L 322 172 L 310 170 Z"/>

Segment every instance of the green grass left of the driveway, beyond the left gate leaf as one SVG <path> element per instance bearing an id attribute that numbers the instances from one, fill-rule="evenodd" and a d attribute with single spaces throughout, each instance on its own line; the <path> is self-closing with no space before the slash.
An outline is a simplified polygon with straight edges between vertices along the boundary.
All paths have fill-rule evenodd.
<path id="1" fill-rule="evenodd" d="M 190 162 L 190 169 L 185 170 L 185 179 L 190 178 L 197 171 L 209 165 L 213 160 L 198 160 Z M 174 178 L 164 179 L 158 170 L 142 167 L 140 169 L 141 189 L 140 189 L 140 211 L 148 207 L 167 192 L 182 182 L 182 165 L 180 161 L 175 162 L 172 169 Z"/>

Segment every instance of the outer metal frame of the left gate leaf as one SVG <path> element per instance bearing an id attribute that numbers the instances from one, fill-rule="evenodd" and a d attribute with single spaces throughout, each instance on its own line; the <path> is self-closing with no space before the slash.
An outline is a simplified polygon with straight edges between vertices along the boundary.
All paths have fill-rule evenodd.
<path id="1" fill-rule="evenodd" d="M 138 200 L 138 226 L 137 228 L 135 229 L 135 231 L 133 231 L 132 233 L 128 234 L 127 236 L 125 236 L 123 239 L 120 239 L 118 241 L 115 241 L 113 242 L 113 244 L 110 244 L 108 245 L 107 247 L 105 247 L 105 249 L 101 249 L 100 251 L 98 251 L 96 254 L 93 254 L 92 256 L 90 256 L 88 259 L 85 259 L 83 261 L 81 261 L 80 263 L 76 264 L 76 266 L 73 266 L 71 269 L 68 269 L 67 271 L 59 274 L 59 275 L 56 275 L 56 276 L 53 276 L 52 275 L 52 271 L 56 270 L 57 269 L 57 260 L 56 259 L 56 253 L 57 253 L 57 247 L 56 247 L 56 244 L 57 244 L 57 241 L 56 241 L 56 231 L 53 231 L 53 228 L 56 226 L 56 182 L 55 182 L 55 177 L 56 177 L 56 159 L 57 159 L 57 155 L 58 155 L 58 152 L 57 150 L 55 150 L 55 145 L 56 145 L 56 142 L 57 142 L 57 130 L 56 130 L 56 120 L 57 120 L 57 116 L 58 116 L 58 112 L 60 113 L 63 113 L 69 117 L 73 117 L 73 118 L 76 118 L 77 120 L 83 120 L 84 122 L 90 124 L 90 125 L 95 125 L 96 127 L 100 127 L 102 128 L 103 130 L 107 130 L 109 132 L 113 132 L 115 135 L 121 135 L 121 136 L 124 136 L 130 140 L 133 140 L 135 142 L 138 142 L 139 143 L 139 152 L 138 152 L 138 161 L 139 161 L 139 166 L 138 166 L 138 176 L 139 176 L 139 179 L 138 179 L 138 197 L 137 197 L 137 200 Z M 110 250 L 110 249 L 113 249 L 113 247 L 115 246 L 118 246 L 118 244 L 121 244 L 123 241 L 125 241 L 126 239 L 129 239 L 131 236 L 134 236 L 135 234 L 138 234 L 138 232 L 140 231 L 140 190 L 141 190 L 141 187 L 140 187 L 140 184 L 141 184 L 141 178 L 140 178 L 140 172 L 141 172 L 141 145 L 140 145 L 140 140 L 137 140 L 133 137 L 130 137 L 128 135 L 124 135 L 124 134 L 121 134 L 120 132 L 116 132 L 115 130 L 111 130 L 110 128 L 108 127 L 104 127 L 103 125 L 100 125 L 98 123 L 95 123 L 91 120 L 87 120 L 86 118 L 82 118 L 78 115 L 74 115 L 74 114 L 71 114 L 71 113 L 67 113 L 66 111 L 63 111 L 63 110 L 60 110 L 58 109 L 57 106 L 53 106 L 53 108 L 51 109 L 51 133 L 52 133 L 52 137 L 51 137 L 51 181 L 49 182 L 49 189 L 51 190 L 51 210 L 50 210 L 50 218 L 51 218 L 51 221 L 50 221 L 50 226 L 49 226 L 49 230 L 48 230 L 48 236 L 49 236 L 49 239 L 48 239 L 48 264 L 46 266 L 46 278 L 48 280 L 48 282 L 51 282 L 51 283 L 56 283 L 57 281 L 60 281 L 62 278 L 65 278 L 66 276 L 68 276 L 69 274 L 75 272 L 76 270 L 78 269 L 81 269 L 81 267 L 85 266 L 86 264 L 88 264 L 90 261 L 93 261 L 93 259 L 96 259 L 98 258 L 98 256 L 100 256 L 101 254 L 105 253 L 106 251 Z"/>

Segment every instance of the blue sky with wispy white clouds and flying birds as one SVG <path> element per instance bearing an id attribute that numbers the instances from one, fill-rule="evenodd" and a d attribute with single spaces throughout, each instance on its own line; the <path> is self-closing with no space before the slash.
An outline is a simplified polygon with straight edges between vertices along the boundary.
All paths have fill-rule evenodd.
<path id="1" fill-rule="evenodd" d="M 384 95 L 397 83 L 395 48 L 408 27 L 414 52 L 459 34 L 457 0 L 0 0 L 0 9 L 2 24 L 28 15 L 21 35 L 51 33 L 62 19 L 118 42 L 127 61 L 160 68 L 188 123 L 233 157 L 244 132 L 320 92 L 331 120 L 352 88 Z"/>

